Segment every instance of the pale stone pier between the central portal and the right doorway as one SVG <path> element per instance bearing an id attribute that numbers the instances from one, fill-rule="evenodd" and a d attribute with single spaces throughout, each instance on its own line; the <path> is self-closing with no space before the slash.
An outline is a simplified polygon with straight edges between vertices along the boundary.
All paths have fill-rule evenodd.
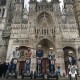
<path id="1" fill-rule="evenodd" d="M 65 73 L 64 53 L 62 49 L 57 50 L 56 63 L 61 68 L 61 76 Z M 57 66 L 56 66 L 57 67 Z"/>

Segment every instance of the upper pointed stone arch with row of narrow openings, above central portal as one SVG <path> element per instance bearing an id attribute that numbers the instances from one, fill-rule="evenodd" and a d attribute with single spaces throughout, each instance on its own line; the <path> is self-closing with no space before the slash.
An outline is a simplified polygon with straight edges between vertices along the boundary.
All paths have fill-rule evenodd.
<path id="1" fill-rule="evenodd" d="M 52 15 L 48 12 L 41 12 L 36 17 L 35 34 L 37 36 L 49 36 L 53 39 L 55 35 L 55 24 Z"/>

